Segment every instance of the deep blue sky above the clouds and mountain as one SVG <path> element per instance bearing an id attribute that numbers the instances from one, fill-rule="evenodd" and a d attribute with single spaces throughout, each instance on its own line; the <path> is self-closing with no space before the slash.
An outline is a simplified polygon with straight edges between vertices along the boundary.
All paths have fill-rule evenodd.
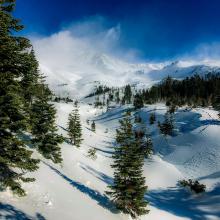
<path id="1" fill-rule="evenodd" d="M 15 15 L 25 35 L 38 36 L 101 18 L 83 34 L 118 27 L 118 46 L 143 59 L 167 60 L 212 50 L 218 56 L 219 8 L 219 0 L 17 0 Z"/>

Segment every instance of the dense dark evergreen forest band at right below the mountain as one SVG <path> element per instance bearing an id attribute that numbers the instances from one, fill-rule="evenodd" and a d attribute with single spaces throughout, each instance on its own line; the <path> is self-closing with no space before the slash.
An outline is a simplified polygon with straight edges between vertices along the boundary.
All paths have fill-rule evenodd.
<path id="1" fill-rule="evenodd" d="M 220 74 L 194 75 L 184 80 L 167 77 L 150 89 L 139 92 L 145 103 L 164 101 L 168 106 L 209 106 L 220 94 Z"/>

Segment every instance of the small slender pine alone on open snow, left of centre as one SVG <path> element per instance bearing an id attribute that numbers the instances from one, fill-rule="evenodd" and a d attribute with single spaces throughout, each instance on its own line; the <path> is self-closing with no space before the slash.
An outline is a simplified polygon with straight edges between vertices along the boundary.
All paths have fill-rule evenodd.
<path id="1" fill-rule="evenodd" d="M 75 103 L 74 110 L 69 114 L 68 134 L 71 143 L 80 147 L 82 142 L 82 127 L 77 103 Z"/>

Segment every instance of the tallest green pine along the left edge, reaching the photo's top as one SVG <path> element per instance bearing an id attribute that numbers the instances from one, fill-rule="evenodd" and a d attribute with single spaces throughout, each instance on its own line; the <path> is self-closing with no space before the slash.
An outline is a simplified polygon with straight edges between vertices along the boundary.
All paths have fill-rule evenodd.
<path id="1" fill-rule="evenodd" d="M 24 174 L 35 171 L 39 160 L 19 138 L 27 130 L 21 79 L 30 71 L 28 39 L 13 35 L 23 29 L 12 16 L 15 0 L 0 1 L 0 188 L 25 195 L 21 182 L 34 181 Z"/>

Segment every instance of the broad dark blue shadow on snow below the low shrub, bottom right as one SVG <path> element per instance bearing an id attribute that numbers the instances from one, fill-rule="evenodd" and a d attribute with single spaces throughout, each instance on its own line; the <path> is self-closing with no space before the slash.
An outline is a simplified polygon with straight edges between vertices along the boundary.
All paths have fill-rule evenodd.
<path id="1" fill-rule="evenodd" d="M 152 206 L 176 216 L 192 220 L 209 218 L 220 219 L 220 185 L 212 191 L 192 195 L 182 188 L 151 190 L 145 196 Z"/>

